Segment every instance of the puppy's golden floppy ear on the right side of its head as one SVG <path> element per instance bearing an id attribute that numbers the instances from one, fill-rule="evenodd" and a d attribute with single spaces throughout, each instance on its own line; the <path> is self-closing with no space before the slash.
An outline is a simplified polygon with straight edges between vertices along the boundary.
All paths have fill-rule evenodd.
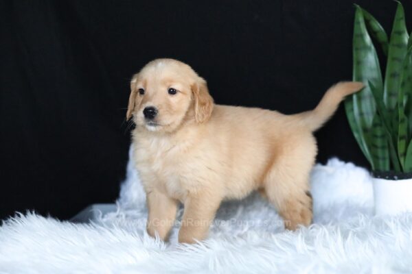
<path id="1" fill-rule="evenodd" d="M 194 119 L 197 123 L 209 120 L 213 111 L 214 101 L 209 95 L 205 79 L 198 77 L 198 81 L 192 85 L 194 96 Z"/>

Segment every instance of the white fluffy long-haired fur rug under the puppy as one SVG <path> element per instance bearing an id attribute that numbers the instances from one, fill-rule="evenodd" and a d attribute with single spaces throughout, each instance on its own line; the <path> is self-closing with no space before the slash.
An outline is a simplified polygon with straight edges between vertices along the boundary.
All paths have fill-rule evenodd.
<path id="1" fill-rule="evenodd" d="M 374 217 L 364 169 L 332 159 L 312 173 L 314 224 L 285 231 L 258 195 L 222 205 L 198 245 L 148 237 L 128 166 L 118 211 L 91 225 L 19 215 L 0 227 L 0 273 L 409 273 L 412 214 Z M 179 217 L 181 216 L 179 211 Z"/>

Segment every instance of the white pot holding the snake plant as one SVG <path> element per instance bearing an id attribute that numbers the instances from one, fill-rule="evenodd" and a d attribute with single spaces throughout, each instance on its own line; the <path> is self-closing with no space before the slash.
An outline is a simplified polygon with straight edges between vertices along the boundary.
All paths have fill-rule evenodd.
<path id="1" fill-rule="evenodd" d="M 412 212 L 412 178 L 374 178 L 374 200 L 376 215 L 396 215 Z"/>

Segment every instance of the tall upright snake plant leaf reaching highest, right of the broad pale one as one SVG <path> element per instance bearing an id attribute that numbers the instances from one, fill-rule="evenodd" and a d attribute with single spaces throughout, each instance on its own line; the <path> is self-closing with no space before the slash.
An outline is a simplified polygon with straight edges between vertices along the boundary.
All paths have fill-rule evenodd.
<path id="1" fill-rule="evenodd" d="M 402 63 L 407 54 L 408 32 L 405 24 L 404 8 L 398 2 L 395 19 L 389 42 L 387 69 L 385 71 L 385 85 L 383 90 L 383 99 L 385 105 L 392 111 L 396 108 L 398 101 L 398 90 L 400 86 L 400 76 L 402 72 Z"/>

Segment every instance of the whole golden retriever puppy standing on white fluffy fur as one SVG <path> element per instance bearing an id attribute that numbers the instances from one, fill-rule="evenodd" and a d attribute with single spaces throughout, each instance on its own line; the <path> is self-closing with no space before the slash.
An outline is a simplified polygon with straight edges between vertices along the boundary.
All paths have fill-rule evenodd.
<path id="1" fill-rule="evenodd" d="M 133 160 L 148 203 L 148 234 L 168 238 L 179 201 L 179 242 L 207 237 L 225 199 L 260 190 L 286 228 L 309 225 L 312 135 L 363 84 L 332 86 L 312 111 L 284 115 L 216 105 L 205 79 L 177 60 L 157 59 L 133 76 L 126 118 L 136 124 Z"/>

